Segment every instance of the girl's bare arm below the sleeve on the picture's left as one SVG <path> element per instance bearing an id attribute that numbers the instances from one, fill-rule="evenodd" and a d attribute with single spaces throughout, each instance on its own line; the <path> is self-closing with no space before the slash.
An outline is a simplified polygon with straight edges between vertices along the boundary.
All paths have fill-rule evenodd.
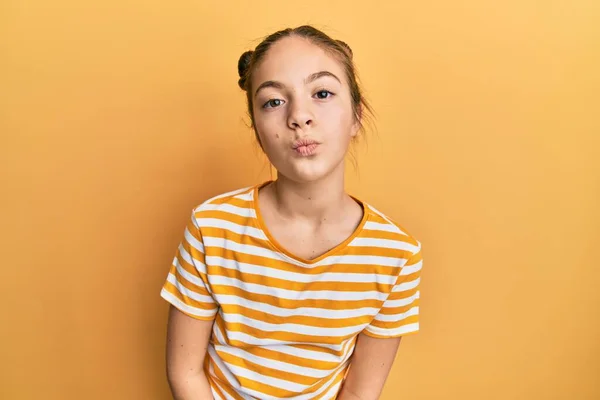
<path id="1" fill-rule="evenodd" d="M 213 400 L 203 369 L 213 322 L 169 309 L 167 378 L 175 400 Z"/>

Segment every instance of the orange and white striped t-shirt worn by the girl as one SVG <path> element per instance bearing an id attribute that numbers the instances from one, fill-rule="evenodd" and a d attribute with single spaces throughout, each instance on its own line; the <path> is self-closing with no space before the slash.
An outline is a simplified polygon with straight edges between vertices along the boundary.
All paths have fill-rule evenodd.
<path id="1" fill-rule="evenodd" d="M 355 198 L 352 236 L 304 260 L 266 229 L 264 185 L 194 208 L 161 296 L 214 319 L 204 370 L 215 399 L 334 399 L 359 333 L 419 329 L 421 245 Z"/>

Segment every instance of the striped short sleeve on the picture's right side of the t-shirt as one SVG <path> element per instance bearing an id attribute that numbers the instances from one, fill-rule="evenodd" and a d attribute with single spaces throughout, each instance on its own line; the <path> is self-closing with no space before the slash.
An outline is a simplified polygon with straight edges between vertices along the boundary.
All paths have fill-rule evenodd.
<path id="1" fill-rule="evenodd" d="M 419 286 L 421 282 L 421 247 L 400 270 L 394 287 L 379 313 L 363 330 L 375 338 L 393 338 L 419 330 Z"/>

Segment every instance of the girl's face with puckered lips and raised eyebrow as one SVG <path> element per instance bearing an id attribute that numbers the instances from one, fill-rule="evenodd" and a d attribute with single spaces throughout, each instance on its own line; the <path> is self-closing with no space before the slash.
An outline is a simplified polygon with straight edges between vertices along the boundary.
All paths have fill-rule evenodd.
<path id="1" fill-rule="evenodd" d="M 360 124 L 342 64 L 299 37 L 275 43 L 252 74 L 254 125 L 279 174 L 311 182 L 344 168 Z"/>

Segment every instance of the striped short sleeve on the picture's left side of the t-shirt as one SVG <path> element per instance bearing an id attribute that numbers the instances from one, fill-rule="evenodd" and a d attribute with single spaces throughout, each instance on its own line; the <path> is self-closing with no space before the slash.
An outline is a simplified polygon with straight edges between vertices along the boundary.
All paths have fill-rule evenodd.
<path id="1" fill-rule="evenodd" d="M 204 264 L 204 244 L 195 213 L 185 228 L 160 295 L 190 317 L 212 320 L 217 303 L 210 292 Z"/>

